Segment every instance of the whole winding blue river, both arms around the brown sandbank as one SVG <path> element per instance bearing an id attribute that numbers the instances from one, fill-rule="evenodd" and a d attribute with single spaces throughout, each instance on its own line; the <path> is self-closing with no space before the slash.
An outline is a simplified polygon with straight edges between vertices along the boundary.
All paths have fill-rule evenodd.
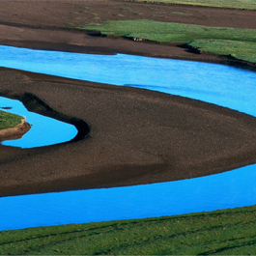
<path id="1" fill-rule="evenodd" d="M 0 46 L 0 66 L 204 100 L 256 116 L 256 72 L 132 56 Z M 0 198 L 0 230 L 195 213 L 256 204 L 256 165 L 154 185 Z M 196 187 L 196 188 L 195 188 Z M 139 196 L 138 196 L 139 195 Z"/>

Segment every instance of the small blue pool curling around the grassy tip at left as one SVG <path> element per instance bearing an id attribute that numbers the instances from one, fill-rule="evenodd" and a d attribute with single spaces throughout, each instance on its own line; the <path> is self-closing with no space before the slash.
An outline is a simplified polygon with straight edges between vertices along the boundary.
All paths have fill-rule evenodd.
<path id="1" fill-rule="evenodd" d="M 1 142 L 2 145 L 19 148 L 43 147 L 69 141 L 77 133 L 77 129 L 70 124 L 29 112 L 18 100 L 0 97 L 0 107 L 12 107 L 11 109 L 0 108 L 0 110 L 23 116 L 32 125 L 21 139 L 6 140 Z"/>

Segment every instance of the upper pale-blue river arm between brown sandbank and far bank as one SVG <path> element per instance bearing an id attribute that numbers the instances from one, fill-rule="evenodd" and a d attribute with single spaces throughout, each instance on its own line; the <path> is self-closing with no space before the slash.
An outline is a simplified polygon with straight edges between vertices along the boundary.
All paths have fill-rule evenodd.
<path id="1" fill-rule="evenodd" d="M 0 66 L 204 100 L 256 116 L 256 74 L 224 65 L 126 54 L 93 55 L 0 46 Z"/>

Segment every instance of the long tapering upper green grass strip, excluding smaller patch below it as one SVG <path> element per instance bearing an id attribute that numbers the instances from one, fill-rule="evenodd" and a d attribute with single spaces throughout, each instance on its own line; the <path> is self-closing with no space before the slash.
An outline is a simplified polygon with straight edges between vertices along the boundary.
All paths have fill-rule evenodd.
<path id="1" fill-rule="evenodd" d="M 102 35 L 143 38 L 159 43 L 187 42 L 197 39 L 256 42 L 255 29 L 207 27 L 148 19 L 113 20 L 80 29 L 100 31 Z"/>

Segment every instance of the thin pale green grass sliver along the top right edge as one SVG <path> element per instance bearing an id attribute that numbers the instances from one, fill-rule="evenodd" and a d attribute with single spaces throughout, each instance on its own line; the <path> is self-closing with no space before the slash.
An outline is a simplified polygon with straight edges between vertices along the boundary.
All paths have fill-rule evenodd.
<path id="1" fill-rule="evenodd" d="M 138 1 L 145 2 L 145 0 Z M 146 2 L 153 2 L 153 0 L 146 0 Z M 154 2 L 256 10 L 255 0 L 154 0 Z"/>

